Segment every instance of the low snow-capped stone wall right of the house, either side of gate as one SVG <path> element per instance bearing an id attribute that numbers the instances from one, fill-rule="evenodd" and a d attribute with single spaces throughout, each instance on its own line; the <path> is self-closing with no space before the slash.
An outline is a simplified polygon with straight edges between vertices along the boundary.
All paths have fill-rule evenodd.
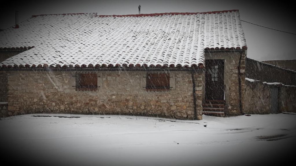
<path id="1" fill-rule="evenodd" d="M 269 114 L 272 112 L 271 89 L 278 88 L 278 113 L 296 112 L 296 86 L 268 84 L 262 81 L 247 81 L 244 89 L 245 107 L 243 112 L 248 114 Z"/>

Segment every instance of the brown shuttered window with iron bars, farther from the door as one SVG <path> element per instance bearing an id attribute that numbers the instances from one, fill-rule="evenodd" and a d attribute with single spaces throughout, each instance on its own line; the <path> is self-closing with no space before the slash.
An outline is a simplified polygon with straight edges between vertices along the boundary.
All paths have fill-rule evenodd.
<path id="1" fill-rule="evenodd" d="M 98 89 L 96 73 L 76 73 L 76 90 L 95 91 Z"/>

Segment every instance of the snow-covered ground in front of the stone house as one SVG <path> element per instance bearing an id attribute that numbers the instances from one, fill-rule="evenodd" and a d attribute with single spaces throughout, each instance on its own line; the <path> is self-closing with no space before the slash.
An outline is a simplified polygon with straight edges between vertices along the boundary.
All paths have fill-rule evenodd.
<path id="1" fill-rule="evenodd" d="M 0 120 L 1 162 L 295 164 L 295 122 L 296 115 L 282 113 L 228 118 L 203 115 L 200 121 L 126 115 L 18 115 Z"/>

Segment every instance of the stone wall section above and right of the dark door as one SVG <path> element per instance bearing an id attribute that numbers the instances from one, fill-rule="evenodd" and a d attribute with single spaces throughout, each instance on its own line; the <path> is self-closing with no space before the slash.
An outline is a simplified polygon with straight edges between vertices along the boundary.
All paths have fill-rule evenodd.
<path id="1" fill-rule="evenodd" d="M 245 67 L 246 56 L 244 52 L 206 52 L 206 59 L 224 59 L 224 85 L 226 115 L 241 115 L 239 105 L 239 59 L 241 80 L 241 102 L 244 107 Z"/>

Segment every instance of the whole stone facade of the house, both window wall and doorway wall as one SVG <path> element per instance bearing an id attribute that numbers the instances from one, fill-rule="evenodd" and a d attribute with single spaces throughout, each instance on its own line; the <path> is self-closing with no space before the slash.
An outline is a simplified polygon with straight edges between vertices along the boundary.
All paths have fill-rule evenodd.
<path id="1" fill-rule="evenodd" d="M 244 51 L 207 51 L 205 57 L 223 59 L 224 113 L 226 116 L 241 115 L 240 105 L 243 109 L 244 91 L 240 91 L 239 86 L 242 89 L 245 87 Z M 98 89 L 76 91 L 73 77 L 76 72 L 96 73 Z M 170 90 L 147 91 L 146 73 L 158 72 L 170 74 Z M 177 68 L 2 69 L 0 96 L 1 101 L 8 102 L 5 116 L 82 113 L 202 119 L 202 103 L 206 100 L 205 72 L 207 71 L 202 69 Z"/>

